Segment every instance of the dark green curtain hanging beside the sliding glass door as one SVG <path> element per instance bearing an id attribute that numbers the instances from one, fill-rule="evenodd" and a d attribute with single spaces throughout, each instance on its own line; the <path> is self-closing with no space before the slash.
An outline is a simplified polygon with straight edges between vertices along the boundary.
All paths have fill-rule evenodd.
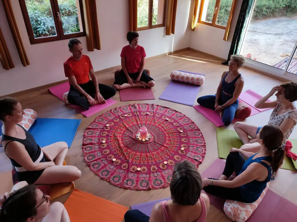
<path id="1" fill-rule="evenodd" d="M 230 61 L 231 55 L 238 54 L 239 49 L 241 47 L 243 36 L 244 36 L 244 30 L 248 23 L 249 15 L 252 13 L 252 5 L 254 0 L 243 0 L 241 4 L 241 9 L 238 15 L 238 20 L 236 23 L 230 51 L 228 54 L 228 60 L 225 62 L 222 62 L 223 65 L 228 65 L 228 62 Z"/>

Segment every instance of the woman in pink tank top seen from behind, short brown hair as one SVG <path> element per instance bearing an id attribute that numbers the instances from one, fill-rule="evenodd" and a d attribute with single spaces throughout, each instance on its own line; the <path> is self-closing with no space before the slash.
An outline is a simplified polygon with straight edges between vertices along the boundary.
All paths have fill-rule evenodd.
<path id="1" fill-rule="evenodd" d="M 202 179 L 195 165 L 189 160 L 176 163 L 170 182 L 171 200 L 155 204 L 151 215 L 128 210 L 125 222 L 204 222 L 209 198 L 201 190 Z"/>

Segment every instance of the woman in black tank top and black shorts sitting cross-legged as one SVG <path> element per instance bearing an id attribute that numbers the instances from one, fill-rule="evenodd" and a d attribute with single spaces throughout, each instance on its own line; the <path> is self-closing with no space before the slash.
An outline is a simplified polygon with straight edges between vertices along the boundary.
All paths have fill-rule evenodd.
<path id="1" fill-rule="evenodd" d="M 18 100 L 0 99 L 2 145 L 16 171 L 18 181 L 29 184 L 56 184 L 72 182 L 81 176 L 75 166 L 63 166 L 68 145 L 57 142 L 40 147 L 34 137 L 18 123 L 24 111 Z"/>

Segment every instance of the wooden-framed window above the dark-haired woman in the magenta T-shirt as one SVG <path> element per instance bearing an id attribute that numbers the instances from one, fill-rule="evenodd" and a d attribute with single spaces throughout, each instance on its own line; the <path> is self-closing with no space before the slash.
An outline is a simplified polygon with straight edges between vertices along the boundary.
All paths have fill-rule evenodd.
<path id="1" fill-rule="evenodd" d="M 137 30 L 165 26 L 166 0 L 137 0 Z"/>

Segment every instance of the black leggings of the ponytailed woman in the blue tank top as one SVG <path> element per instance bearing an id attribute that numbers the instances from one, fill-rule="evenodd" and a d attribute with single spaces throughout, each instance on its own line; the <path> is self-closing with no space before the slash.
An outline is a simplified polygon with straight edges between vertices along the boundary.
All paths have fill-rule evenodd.
<path id="1" fill-rule="evenodd" d="M 240 153 L 238 152 L 229 153 L 226 160 L 226 165 L 223 171 L 223 175 L 229 178 L 232 175 L 232 173 L 235 171 L 236 176 L 238 176 L 244 163 L 245 163 L 245 159 Z M 209 178 L 209 179 L 217 180 L 214 178 Z M 214 196 L 221 197 L 226 200 L 250 202 L 242 195 L 241 189 L 239 187 L 227 188 L 222 186 L 209 185 L 209 186 L 205 186 L 203 190 L 208 194 L 212 194 Z"/>

